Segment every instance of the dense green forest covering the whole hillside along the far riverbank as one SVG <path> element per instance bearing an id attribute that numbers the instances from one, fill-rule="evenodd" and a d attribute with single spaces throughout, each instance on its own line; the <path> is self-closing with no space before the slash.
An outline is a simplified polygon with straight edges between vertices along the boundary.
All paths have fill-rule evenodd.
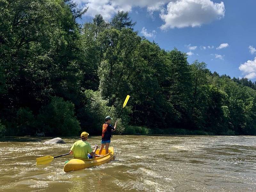
<path id="1" fill-rule="evenodd" d="M 71 0 L 0 0 L 0 136 L 101 132 L 131 98 L 117 134 L 256 134 L 256 84 L 212 73 Z M 90 9 L 90 7 L 89 7 Z"/>

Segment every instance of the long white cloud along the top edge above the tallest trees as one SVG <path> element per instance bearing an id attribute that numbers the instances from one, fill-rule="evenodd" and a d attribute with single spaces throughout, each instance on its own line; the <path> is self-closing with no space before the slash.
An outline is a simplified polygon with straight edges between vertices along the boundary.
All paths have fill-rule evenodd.
<path id="1" fill-rule="evenodd" d="M 176 0 L 74 0 L 80 7 L 89 7 L 87 15 L 94 17 L 100 13 L 109 20 L 118 10 L 132 11 L 133 7 L 147 8 L 149 13 L 160 11 L 164 5 Z"/>

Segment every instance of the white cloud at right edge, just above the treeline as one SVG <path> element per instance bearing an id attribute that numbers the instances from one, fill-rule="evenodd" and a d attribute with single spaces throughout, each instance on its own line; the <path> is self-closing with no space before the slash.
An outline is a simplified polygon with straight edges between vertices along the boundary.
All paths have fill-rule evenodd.
<path id="1" fill-rule="evenodd" d="M 253 79 L 256 77 L 256 57 L 254 60 L 248 60 L 244 64 L 239 66 L 239 70 L 242 71 L 243 75 L 248 79 Z"/>

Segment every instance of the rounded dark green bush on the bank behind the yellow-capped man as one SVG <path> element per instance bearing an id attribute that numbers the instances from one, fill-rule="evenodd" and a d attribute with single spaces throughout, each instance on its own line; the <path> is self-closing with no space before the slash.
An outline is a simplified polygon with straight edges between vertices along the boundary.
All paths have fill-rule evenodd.
<path id="1" fill-rule="evenodd" d="M 79 134 L 80 123 L 75 116 L 74 104 L 63 98 L 53 97 L 38 115 L 39 131 L 46 135 L 74 136 Z"/>

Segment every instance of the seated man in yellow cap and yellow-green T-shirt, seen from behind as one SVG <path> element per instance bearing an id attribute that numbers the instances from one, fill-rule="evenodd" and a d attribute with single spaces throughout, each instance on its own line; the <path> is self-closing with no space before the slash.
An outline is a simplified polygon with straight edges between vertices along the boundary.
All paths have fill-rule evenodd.
<path id="1" fill-rule="evenodd" d="M 74 155 L 74 158 L 80 158 L 80 159 L 92 159 L 95 157 L 95 152 L 98 148 L 98 145 L 95 145 L 94 150 L 92 151 L 90 143 L 88 143 L 86 140 L 88 140 L 89 133 L 82 132 L 81 133 L 81 140 L 76 141 L 73 146 L 71 147 L 69 154 Z"/>

